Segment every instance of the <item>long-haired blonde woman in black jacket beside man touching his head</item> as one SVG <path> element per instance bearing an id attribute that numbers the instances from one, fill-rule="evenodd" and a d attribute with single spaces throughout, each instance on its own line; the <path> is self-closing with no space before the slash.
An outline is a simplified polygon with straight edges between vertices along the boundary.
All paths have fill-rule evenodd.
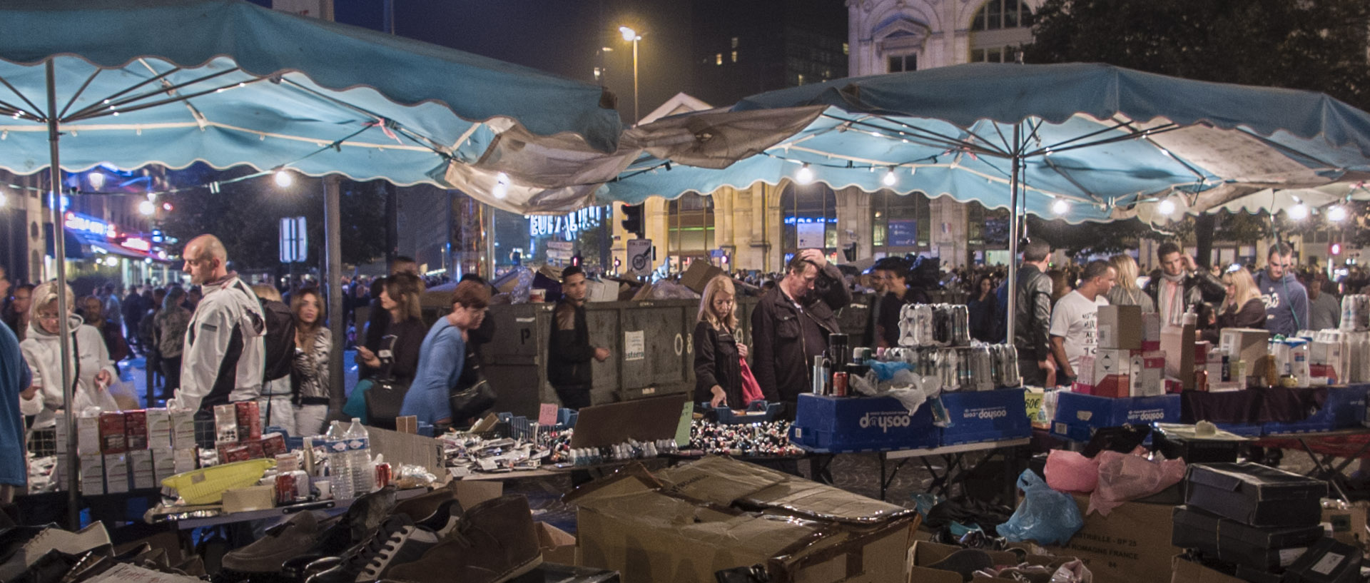
<path id="1" fill-rule="evenodd" d="M 741 359 L 747 345 L 737 341 L 737 290 L 726 275 L 704 286 L 695 324 L 695 401 L 712 406 L 745 408 Z"/>

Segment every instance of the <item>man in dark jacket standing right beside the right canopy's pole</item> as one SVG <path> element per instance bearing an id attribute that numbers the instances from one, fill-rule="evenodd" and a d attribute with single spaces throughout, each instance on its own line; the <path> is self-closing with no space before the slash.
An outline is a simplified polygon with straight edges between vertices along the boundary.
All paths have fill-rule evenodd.
<path id="1" fill-rule="evenodd" d="M 1047 276 L 1051 245 L 1033 241 L 1023 248 L 1018 268 L 1014 307 L 1014 348 L 1018 349 L 1018 372 L 1023 385 L 1056 385 L 1056 367 L 1051 361 L 1051 278 Z"/>

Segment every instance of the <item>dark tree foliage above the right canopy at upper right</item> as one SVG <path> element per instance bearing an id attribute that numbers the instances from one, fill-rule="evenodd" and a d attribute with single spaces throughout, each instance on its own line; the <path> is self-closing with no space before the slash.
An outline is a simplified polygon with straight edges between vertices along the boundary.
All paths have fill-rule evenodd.
<path id="1" fill-rule="evenodd" d="M 1308 89 L 1370 109 L 1365 0 L 1047 0 L 1029 63 Z"/>

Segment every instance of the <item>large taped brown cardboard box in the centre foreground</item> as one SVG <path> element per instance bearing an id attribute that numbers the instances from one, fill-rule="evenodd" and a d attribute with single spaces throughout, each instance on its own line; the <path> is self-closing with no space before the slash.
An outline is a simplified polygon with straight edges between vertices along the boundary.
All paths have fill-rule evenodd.
<path id="1" fill-rule="evenodd" d="M 722 457 L 634 465 L 566 500 L 580 562 L 625 582 L 714 583 L 756 564 L 781 580 L 903 582 L 918 526 L 901 506 Z"/>

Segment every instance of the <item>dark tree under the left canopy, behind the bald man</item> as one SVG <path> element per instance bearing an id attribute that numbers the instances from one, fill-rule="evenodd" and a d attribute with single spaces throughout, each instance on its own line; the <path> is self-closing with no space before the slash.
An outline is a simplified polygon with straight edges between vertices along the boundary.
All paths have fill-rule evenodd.
<path id="1" fill-rule="evenodd" d="M 178 186 L 227 181 L 249 170 L 215 171 L 192 167 L 171 172 Z M 279 229 L 286 216 L 304 216 L 310 256 L 306 267 L 323 263 L 323 183 L 318 178 L 295 177 L 289 187 L 270 177 L 226 183 L 218 193 L 193 189 L 169 196 L 174 209 L 163 222 L 166 234 L 185 245 L 199 234 L 223 241 L 234 268 L 267 270 L 279 265 Z M 381 182 L 342 181 L 338 204 L 342 230 L 342 263 L 369 263 L 385 253 L 385 190 Z M 175 248 L 179 252 L 179 248 Z"/>

